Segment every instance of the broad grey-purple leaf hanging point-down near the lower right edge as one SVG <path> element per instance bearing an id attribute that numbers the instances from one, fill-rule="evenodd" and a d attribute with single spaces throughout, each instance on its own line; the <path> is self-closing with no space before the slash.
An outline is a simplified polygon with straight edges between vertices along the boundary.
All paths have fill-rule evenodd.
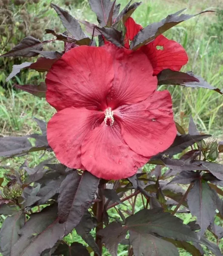
<path id="1" fill-rule="evenodd" d="M 203 236 L 207 227 L 213 223 L 216 205 L 216 196 L 208 183 L 196 180 L 187 196 L 187 203 L 192 215 L 197 217 L 200 226 L 199 236 Z"/>

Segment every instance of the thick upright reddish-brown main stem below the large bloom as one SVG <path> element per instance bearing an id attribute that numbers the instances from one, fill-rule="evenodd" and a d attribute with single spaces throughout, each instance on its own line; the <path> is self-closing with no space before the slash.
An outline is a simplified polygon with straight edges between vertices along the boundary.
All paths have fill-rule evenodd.
<path id="1" fill-rule="evenodd" d="M 100 250 L 100 253 L 102 254 L 102 241 L 101 237 L 97 235 L 97 233 L 103 229 L 103 213 L 104 213 L 104 206 L 105 206 L 105 196 L 102 193 L 102 189 L 106 188 L 106 184 L 102 182 L 99 183 L 98 186 L 98 196 L 100 198 L 100 201 L 97 202 L 97 227 L 96 227 L 96 236 L 95 236 L 95 242 Z M 97 255 L 97 253 L 94 253 L 94 256 L 100 256 Z"/>

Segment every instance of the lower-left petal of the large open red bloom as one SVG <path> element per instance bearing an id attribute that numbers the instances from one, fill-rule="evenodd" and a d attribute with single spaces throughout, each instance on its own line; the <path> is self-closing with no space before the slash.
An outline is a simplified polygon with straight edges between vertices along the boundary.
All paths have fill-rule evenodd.
<path id="1" fill-rule="evenodd" d="M 47 140 L 60 163 L 69 168 L 84 169 L 80 161 L 80 145 L 103 118 L 103 112 L 85 108 L 65 108 L 54 114 L 47 125 Z"/>

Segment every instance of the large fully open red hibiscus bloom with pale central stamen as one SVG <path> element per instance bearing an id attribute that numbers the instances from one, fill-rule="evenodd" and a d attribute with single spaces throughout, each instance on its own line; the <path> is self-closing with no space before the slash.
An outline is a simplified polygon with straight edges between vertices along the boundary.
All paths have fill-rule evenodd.
<path id="1" fill-rule="evenodd" d="M 47 139 L 58 160 L 93 175 L 134 175 L 176 136 L 172 99 L 156 91 L 143 52 L 80 46 L 66 52 L 46 76 L 46 99 L 58 111 Z"/>

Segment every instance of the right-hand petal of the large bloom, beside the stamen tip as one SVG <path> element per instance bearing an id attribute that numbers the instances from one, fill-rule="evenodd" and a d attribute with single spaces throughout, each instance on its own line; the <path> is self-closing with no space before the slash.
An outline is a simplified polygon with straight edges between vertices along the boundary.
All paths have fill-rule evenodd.
<path id="1" fill-rule="evenodd" d="M 121 134 L 137 154 L 151 157 L 169 148 L 177 135 L 170 93 L 156 91 L 143 102 L 114 111 Z"/>

